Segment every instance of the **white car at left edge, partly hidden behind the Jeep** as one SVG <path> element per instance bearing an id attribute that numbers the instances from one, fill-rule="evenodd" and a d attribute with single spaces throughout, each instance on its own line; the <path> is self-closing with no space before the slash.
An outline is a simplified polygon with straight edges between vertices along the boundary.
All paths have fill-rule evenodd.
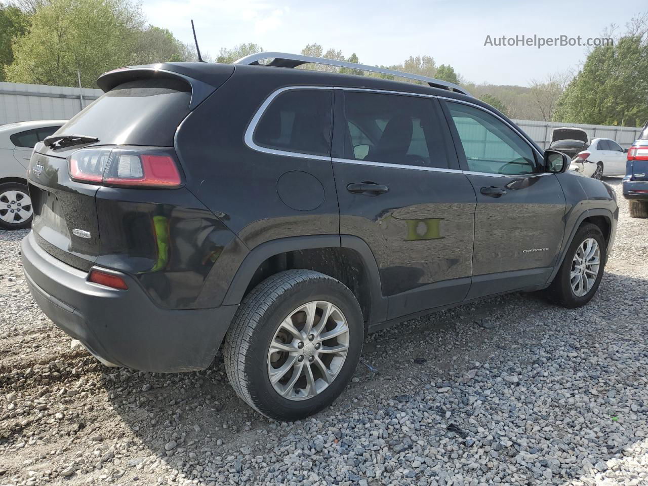
<path id="1" fill-rule="evenodd" d="M 34 211 L 26 176 L 32 150 L 65 122 L 45 120 L 0 125 L 0 228 L 30 226 Z"/>

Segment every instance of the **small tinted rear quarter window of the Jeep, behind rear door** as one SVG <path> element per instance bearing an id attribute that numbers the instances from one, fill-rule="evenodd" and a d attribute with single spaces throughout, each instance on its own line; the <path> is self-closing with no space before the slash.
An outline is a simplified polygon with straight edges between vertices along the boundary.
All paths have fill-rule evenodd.
<path id="1" fill-rule="evenodd" d="M 255 143 L 288 152 L 329 155 L 332 99 L 332 92 L 326 89 L 281 93 L 257 124 Z"/>

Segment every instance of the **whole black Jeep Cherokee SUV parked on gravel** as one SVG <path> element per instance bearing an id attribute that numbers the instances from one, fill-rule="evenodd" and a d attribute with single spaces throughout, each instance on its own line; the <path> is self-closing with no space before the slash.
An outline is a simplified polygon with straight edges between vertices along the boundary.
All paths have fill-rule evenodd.
<path id="1" fill-rule="evenodd" d="M 297 419 L 340 395 L 367 332 L 516 290 L 578 307 L 601 281 L 612 189 L 458 86 L 277 52 L 97 84 L 36 146 L 22 259 L 106 364 L 191 371 L 223 345 L 239 397 Z"/>

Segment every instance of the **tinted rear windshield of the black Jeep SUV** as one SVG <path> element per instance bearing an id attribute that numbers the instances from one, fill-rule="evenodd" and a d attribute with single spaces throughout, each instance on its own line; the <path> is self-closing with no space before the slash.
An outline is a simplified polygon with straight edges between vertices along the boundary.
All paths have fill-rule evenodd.
<path id="1" fill-rule="evenodd" d="M 56 134 L 97 137 L 101 145 L 173 146 L 190 101 L 191 87 L 182 80 L 130 81 L 95 100 Z"/>

